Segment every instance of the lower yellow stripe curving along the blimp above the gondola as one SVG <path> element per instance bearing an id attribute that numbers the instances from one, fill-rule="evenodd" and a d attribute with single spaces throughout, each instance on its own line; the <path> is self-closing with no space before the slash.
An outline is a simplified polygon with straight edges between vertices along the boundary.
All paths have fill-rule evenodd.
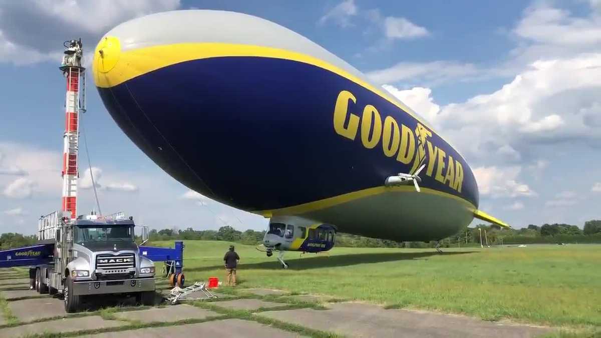
<path id="1" fill-rule="evenodd" d="M 306 214 L 307 212 L 313 212 L 317 210 L 326 209 L 328 207 L 337 206 L 338 204 L 347 203 L 349 201 L 358 200 L 359 198 L 370 197 L 374 195 L 383 194 L 385 192 L 411 192 L 413 194 L 432 194 L 438 195 L 444 198 L 452 198 L 454 200 L 460 201 L 465 204 L 466 209 L 474 212 L 477 210 L 476 206 L 456 195 L 448 194 L 447 192 L 438 191 L 430 188 L 421 188 L 421 192 L 415 192 L 415 188 L 413 186 L 376 186 L 374 188 L 363 189 L 359 191 L 349 192 L 347 194 L 338 195 L 334 197 L 324 198 L 323 200 L 308 202 L 304 204 L 299 204 L 297 206 L 290 207 L 282 207 L 281 209 L 273 209 L 273 210 L 260 210 L 254 211 L 255 214 L 263 215 L 263 217 L 273 217 L 278 215 L 301 215 Z"/>

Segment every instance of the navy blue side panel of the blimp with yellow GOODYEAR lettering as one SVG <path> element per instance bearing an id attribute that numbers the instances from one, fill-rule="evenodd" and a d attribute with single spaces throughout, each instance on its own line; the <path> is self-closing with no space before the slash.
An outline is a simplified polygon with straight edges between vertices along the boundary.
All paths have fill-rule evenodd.
<path id="1" fill-rule="evenodd" d="M 420 174 L 478 206 L 462 156 L 378 93 L 282 58 L 184 61 L 99 87 L 112 117 L 165 171 L 244 210 L 273 210 Z"/>

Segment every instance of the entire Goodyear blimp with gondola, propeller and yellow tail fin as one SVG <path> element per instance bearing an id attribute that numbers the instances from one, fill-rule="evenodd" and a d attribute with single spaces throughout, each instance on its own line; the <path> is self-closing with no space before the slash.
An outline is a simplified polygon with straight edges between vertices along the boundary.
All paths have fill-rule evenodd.
<path id="1" fill-rule="evenodd" d="M 423 118 L 313 41 L 268 20 L 169 11 L 94 54 L 111 116 L 184 185 L 270 218 L 267 256 L 335 233 L 438 241 L 478 210 L 474 174 Z"/>

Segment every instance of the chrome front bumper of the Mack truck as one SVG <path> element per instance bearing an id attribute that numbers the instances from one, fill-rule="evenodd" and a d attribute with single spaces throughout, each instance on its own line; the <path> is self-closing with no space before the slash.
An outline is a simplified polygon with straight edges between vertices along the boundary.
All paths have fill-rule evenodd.
<path id="1" fill-rule="evenodd" d="M 105 293 L 129 293 L 154 291 L 154 278 L 123 280 L 86 280 L 73 282 L 73 295 L 101 295 Z"/>

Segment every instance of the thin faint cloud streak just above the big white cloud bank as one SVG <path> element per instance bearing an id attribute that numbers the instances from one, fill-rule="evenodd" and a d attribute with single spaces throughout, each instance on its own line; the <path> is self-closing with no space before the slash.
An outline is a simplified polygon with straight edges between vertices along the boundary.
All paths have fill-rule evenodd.
<path id="1" fill-rule="evenodd" d="M 368 78 L 378 84 L 441 84 L 447 81 L 468 79 L 478 74 L 477 67 L 470 63 L 454 61 L 432 61 L 427 63 L 401 62 L 385 69 L 367 72 Z"/>

